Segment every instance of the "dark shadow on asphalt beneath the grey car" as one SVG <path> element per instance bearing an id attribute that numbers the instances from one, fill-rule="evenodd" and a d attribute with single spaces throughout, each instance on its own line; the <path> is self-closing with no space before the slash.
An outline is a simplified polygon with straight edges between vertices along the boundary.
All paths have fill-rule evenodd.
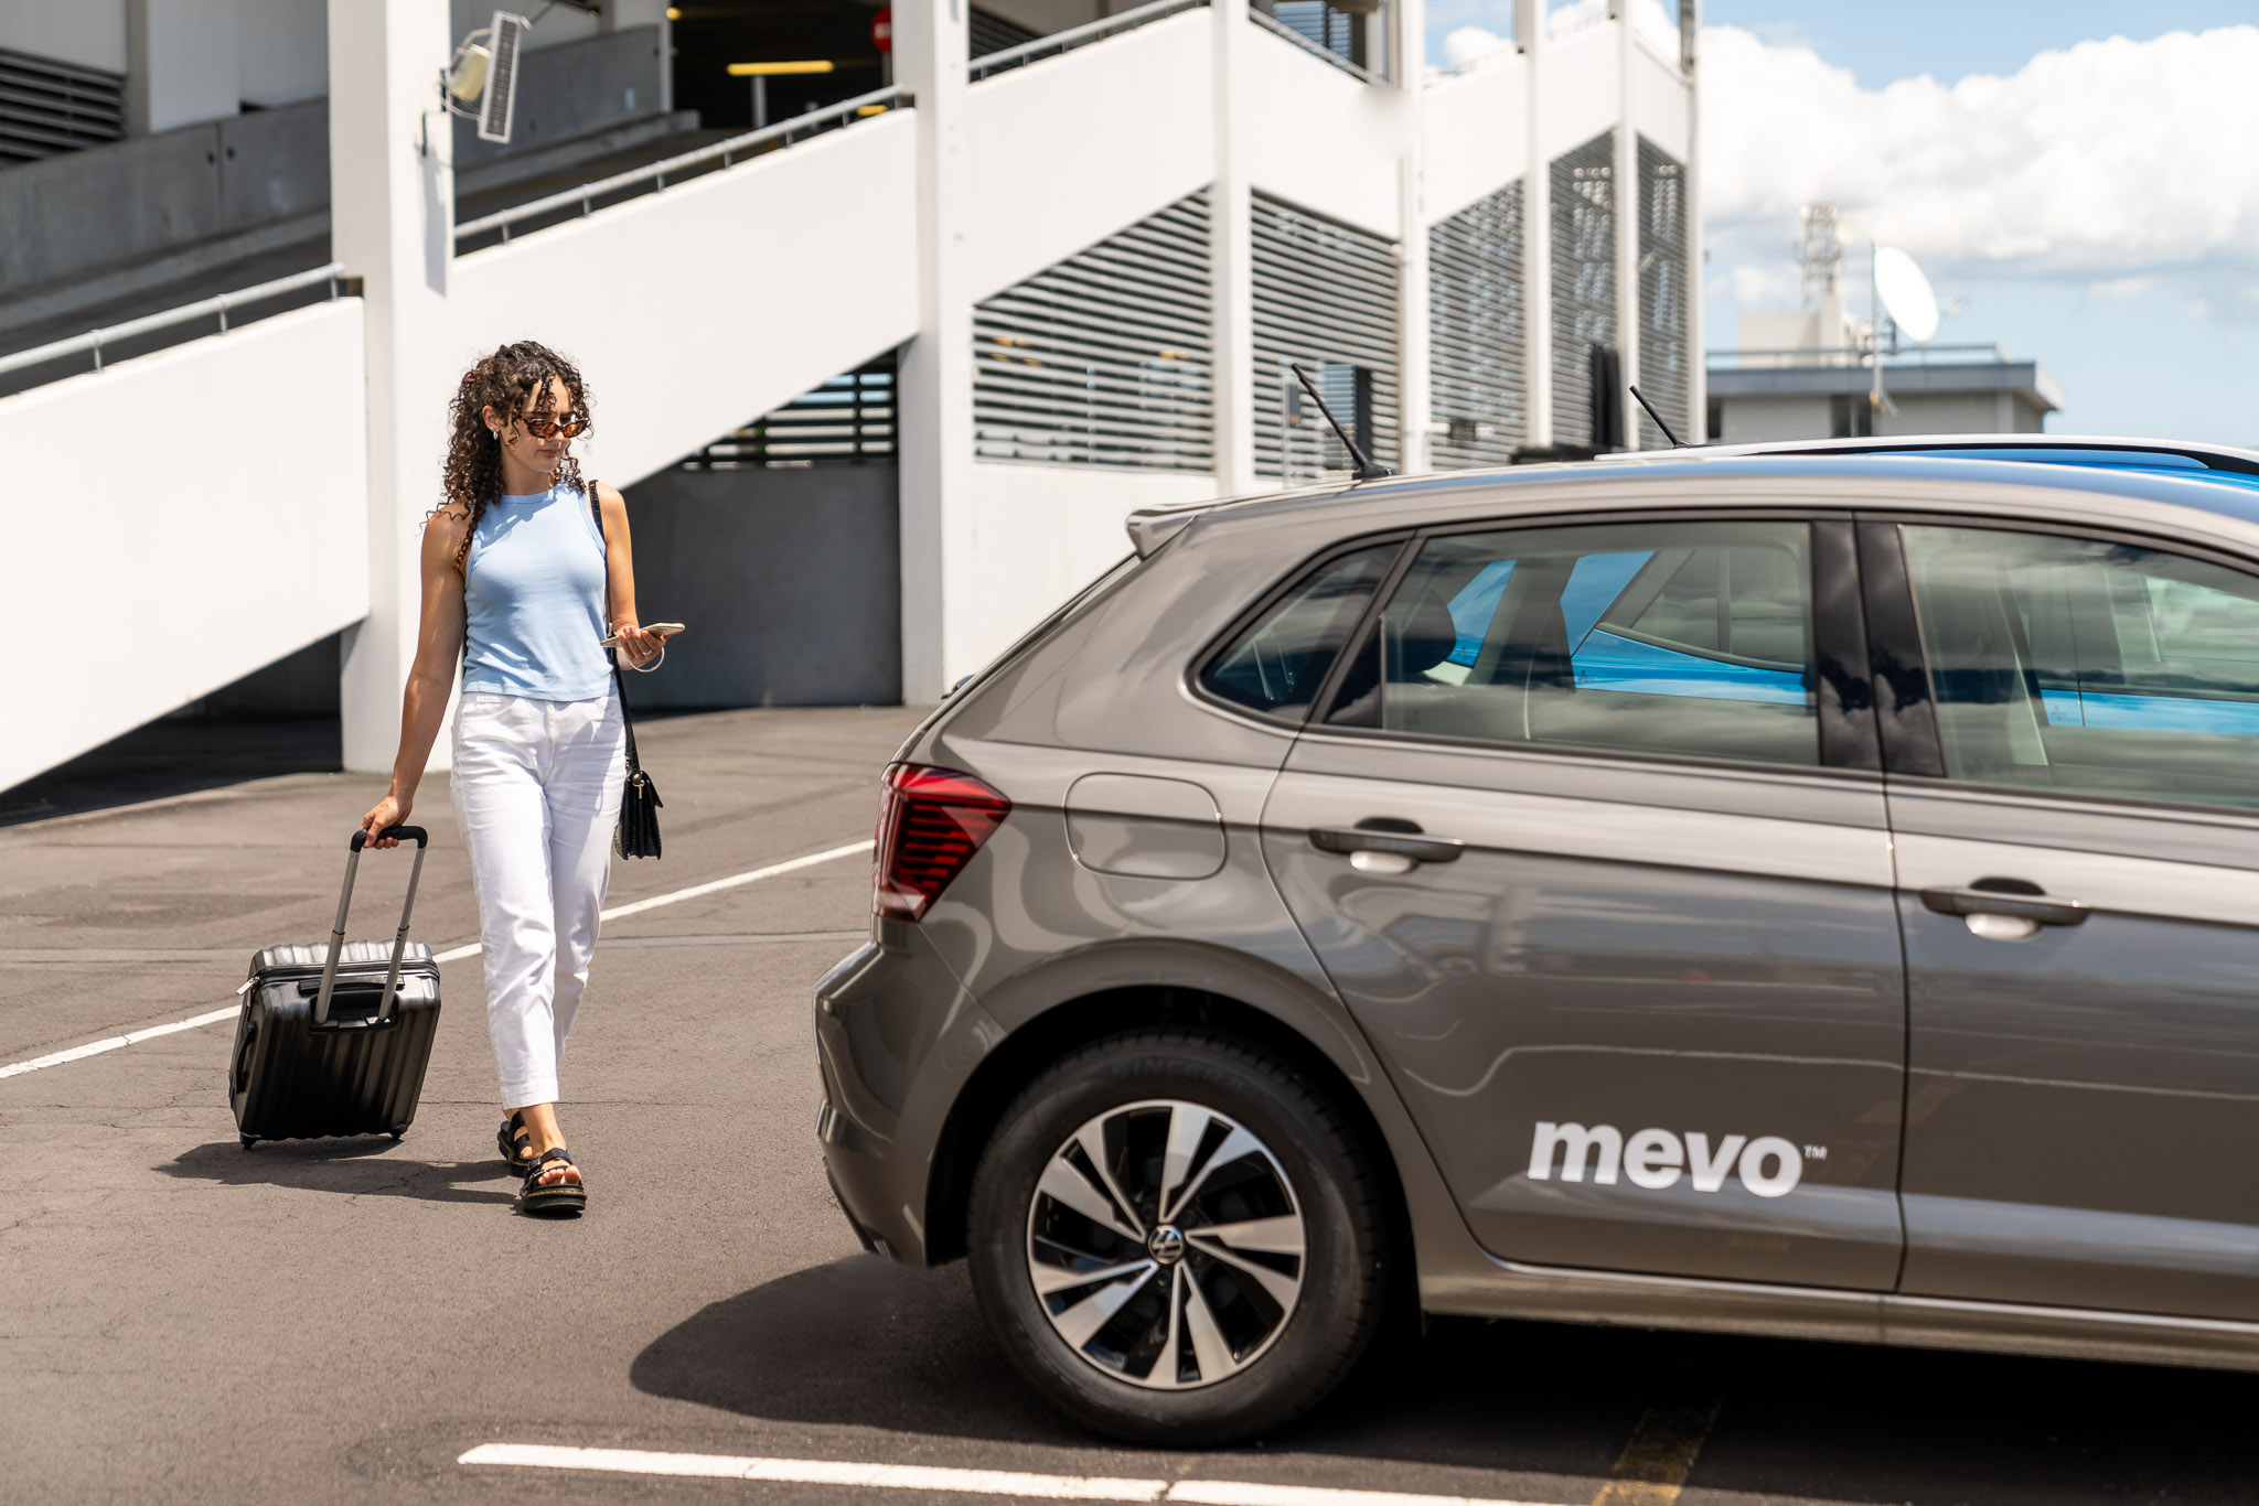
<path id="1" fill-rule="evenodd" d="M 1105 1443 L 989 1341 L 965 1267 L 854 1255 L 698 1312 L 637 1391 L 802 1425 Z M 1692 1486 L 1830 1501 L 2252 1499 L 2259 1377 L 1554 1323 L 1439 1319 L 1385 1341 L 1297 1450 L 1604 1479 L 1649 1407 L 1721 1400 Z"/>

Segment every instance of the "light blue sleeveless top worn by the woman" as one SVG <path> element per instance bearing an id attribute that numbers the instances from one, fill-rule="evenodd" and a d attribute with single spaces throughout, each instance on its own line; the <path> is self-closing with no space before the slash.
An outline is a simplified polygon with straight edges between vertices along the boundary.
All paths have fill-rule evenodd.
<path id="1" fill-rule="evenodd" d="M 531 700 L 612 691 L 603 639 L 603 535 L 587 494 L 499 497 L 463 560 L 463 689 Z"/>

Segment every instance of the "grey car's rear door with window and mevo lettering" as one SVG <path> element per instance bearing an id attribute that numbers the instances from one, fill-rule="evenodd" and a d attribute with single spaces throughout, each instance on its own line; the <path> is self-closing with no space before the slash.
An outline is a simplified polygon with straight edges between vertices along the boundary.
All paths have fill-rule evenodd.
<path id="1" fill-rule="evenodd" d="M 1265 856 L 1511 1260 L 1886 1289 L 1904 991 L 1848 519 L 1428 533 Z"/>

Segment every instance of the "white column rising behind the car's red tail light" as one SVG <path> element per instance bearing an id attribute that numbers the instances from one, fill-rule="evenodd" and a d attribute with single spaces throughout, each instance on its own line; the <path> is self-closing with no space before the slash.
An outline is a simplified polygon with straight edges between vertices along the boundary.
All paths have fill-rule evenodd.
<path id="1" fill-rule="evenodd" d="M 965 194 L 965 0 L 897 0 L 895 81 L 917 120 L 917 336 L 901 352 L 901 698 L 971 673 L 951 643 L 974 578 L 974 307 Z"/>

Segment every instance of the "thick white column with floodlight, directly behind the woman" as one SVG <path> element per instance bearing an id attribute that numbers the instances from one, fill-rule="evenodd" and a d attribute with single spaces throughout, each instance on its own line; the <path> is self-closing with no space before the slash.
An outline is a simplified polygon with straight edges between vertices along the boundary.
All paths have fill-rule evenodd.
<path id="1" fill-rule="evenodd" d="M 422 519 L 447 449 L 454 131 L 436 115 L 447 0 L 330 0 L 330 255 L 361 278 L 368 350 L 368 616 L 346 632 L 346 768 L 384 772 L 416 659 Z M 429 142 L 429 154 L 425 151 Z M 447 768 L 447 738 L 431 750 Z"/>

